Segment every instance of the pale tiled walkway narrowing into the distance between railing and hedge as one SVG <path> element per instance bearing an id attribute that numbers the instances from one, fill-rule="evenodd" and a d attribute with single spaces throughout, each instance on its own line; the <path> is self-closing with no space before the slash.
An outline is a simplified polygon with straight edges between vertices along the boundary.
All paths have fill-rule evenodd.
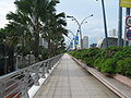
<path id="1" fill-rule="evenodd" d="M 35 98 L 119 98 L 68 54 L 47 78 Z"/>

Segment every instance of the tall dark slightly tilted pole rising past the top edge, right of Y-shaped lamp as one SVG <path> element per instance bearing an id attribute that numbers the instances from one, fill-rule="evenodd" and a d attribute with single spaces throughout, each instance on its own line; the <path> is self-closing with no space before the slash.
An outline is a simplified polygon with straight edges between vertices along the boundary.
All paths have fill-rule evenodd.
<path id="1" fill-rule="evenodd" d="M 98 0 L 96 0 L 98 1 Z M 102 0 L 102 7 L 103 7 L 103 15 L 104 15 L 104 28 L 105 28 L 105 40 L 106 40 L 106 47 L 108 47 L 108 35 L 107 35 L 107 23 L 106 23 L 106 13 L 105 13 L 105 4 L 104 0 Z"/>

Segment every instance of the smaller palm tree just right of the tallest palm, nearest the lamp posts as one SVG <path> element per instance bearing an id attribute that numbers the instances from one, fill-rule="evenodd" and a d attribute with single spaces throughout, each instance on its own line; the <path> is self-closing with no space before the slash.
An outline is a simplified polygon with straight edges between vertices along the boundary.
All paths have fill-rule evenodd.
<path id="1" fill-rule="evenodd" d="M 43 34 L 43 37 L 48 41 L 49 58 L 53 54 L 55 49 L 57 50 L 63 35 L 68 35 L 68 30 L 64 28 L 67 26 L 64 13 L 56 14 L 52 12 L 50 14 L 51 15 L 48 16 L 50 21 L 48 21 L 47 25 L 44 27 Z"/>

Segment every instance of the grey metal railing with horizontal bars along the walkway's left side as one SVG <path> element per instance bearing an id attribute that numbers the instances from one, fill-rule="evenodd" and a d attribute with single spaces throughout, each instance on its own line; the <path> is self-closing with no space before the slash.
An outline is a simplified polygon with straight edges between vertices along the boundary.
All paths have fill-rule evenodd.
<path id="1" fill-rule="evenodd" d="M 28 98 L 28 89 L 38 86 L 39 78 L 45 78 L 45 74 L 59 61 L 62 54 L 35 63 L 28 68 L 17 70 L 13 73 L 0 77 L 0 98 Z"/>

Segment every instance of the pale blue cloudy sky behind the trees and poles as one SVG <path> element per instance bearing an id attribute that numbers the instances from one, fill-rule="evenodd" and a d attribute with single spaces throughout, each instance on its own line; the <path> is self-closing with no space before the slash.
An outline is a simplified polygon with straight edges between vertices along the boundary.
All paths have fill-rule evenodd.
<path id="1" fill-rule="evenodd" d="M 104 0 L 107 17 L 108 30 L 118 28 L 118 8 L 119 0 Z M 5 14 L 10 11 L 15 12 L 14 0 L 0 0 L 0 28 L 4 27 L 8 21 Z M 104 37 L 104 22 L 102 12 L 100 0 L 60 0 L 60 3 L 56 7 L 57 13 L 64 12 L 67 15 L 74 16 L 80 23 L 86 16 L 94 14 L 93 17 L 88 17 L 82 25 L 82 35 L 88 36 L 90 45 L 97 42 L 98 38 Z M 124 15 L 123 15 L 124 20 Z M 67 28 L 72 30 L 74 35 L 78 30 L 78 24 L 71 19 L 67 19 Z M 69 36 L 73 36 L 69 33 Z M 69 41 L 69 38 L 66 38 Z"/>

